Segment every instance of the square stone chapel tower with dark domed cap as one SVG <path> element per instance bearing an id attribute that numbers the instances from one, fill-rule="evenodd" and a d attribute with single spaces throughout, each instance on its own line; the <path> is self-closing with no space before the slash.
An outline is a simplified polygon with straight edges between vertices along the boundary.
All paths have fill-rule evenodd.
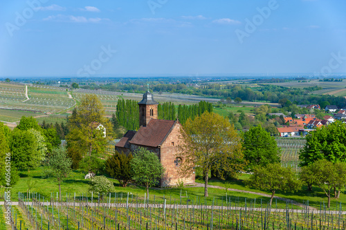
<path id="1" fill-rule="evenodd" d="M 150 119 L 157 119 L 157 105 L 152 93 L 149 90 L 143 95 L 143 99 L 138 102 L 139 106 L 139 126 L 147 126 Z"/>

